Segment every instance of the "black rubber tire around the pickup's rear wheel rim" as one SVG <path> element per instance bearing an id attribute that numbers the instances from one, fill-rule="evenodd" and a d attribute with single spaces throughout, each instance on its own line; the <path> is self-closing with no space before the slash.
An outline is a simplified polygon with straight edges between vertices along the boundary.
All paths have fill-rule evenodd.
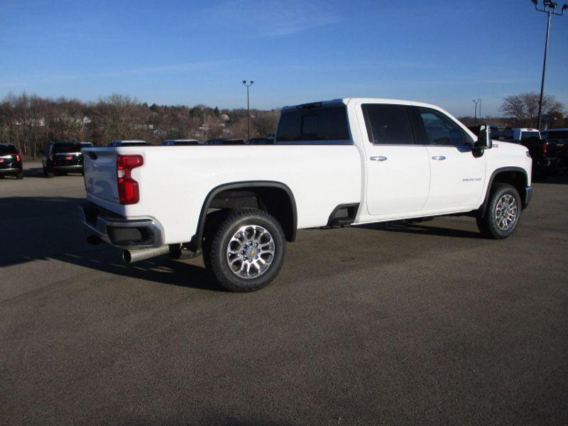
<path id="1" fill-rule="evenodd" d="M 259 209 L 234 209 L 229 212 L 215 212 L 212 217 L 207 217 L 207 222 L 203 241 L 203 260 L 208 273 L 217 283 L 229 291 L 244 293 L 260 290 L 278 275 L 286 256 L 286 241 L 282 226 L 271 214 Z M 271 258 L 272 261 L 268 262 L 269 266 L 263 272 L 253 266 L 258 276 L 242 278 L 238 272 L 231 270 L 227 261 L 227 248 L 239 229 L 249 225 L 261 226 L 268 231 L 269 236 L 272 237 L 274 254 L 271 257 L 266 252 L 261 254 L 261 251 L 251 251 L 252 256 L 256 255 L 255 258 L 265 256 L 264 260 Z M 268 239 L 268 236 L 264 238 Z M 236 255 L 236 257 L 241 257 L 241 255 Z M 240 264 L 242 267 L 242 263 L 237 260 L 234 265 L 239 266 Z"/>

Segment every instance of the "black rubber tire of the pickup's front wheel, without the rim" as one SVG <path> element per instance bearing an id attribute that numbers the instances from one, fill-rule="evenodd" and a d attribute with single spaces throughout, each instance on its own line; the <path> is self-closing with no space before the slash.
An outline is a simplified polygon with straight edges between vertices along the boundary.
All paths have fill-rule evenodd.
<path id="1" fill-rule="evenodd" d="M 506 195 L 510 195 L 515 199 L 516 214 L 513 224 L 507 229 L 503 229 L 503 227 L 498 224 L 498 219 L 496 217 L 497 204 Z M 477 218 L 477 227 L 479 228 L 479 231 L 481 231 L 481 235 L 486 238 L 504 239 L 510 236 L 510 234 L 513 234 L 513 231 L 515 231 L 519 223 L 521 213 L 522 207 L 520 195 L 515 187 L 508 185 L 507 183 L 496 183 L 491 188 L 491 194 L 489 195 L 484 215 Z"/>

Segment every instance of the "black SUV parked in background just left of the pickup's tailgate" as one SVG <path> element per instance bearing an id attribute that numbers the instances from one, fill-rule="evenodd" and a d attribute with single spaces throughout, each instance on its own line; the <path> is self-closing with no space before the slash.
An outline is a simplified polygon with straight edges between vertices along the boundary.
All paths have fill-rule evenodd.
<path id="1" fill-rule="evenodd" d="M 43 153 L 43 175 L 53 178 L 54 175 L 66 173 L 83 173 L 83 154 L 80 142 L 50 142 Z"/>

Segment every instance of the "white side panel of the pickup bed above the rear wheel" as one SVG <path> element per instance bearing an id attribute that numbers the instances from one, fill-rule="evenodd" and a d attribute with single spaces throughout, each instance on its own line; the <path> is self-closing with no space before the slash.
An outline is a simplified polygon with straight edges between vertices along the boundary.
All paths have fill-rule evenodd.
<path id="1" fill-rule="evenodd" d="M 120 206 L 128 219 L 151 217 L 162 224 L 165 244 L 190 241 L 211 190 L 233 182 L 281 182 L 293 192 L 297 227 L 327 224 L 338 204 L 361 196 L 355 146 L 153 146 L 119 147 L 143 155 L 132 170 L 140 202 Z"/>

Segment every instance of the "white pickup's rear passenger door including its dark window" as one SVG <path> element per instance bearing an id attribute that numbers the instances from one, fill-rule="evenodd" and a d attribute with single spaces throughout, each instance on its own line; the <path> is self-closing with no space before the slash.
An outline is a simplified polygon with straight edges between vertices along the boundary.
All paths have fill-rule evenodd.
<path id="1" fill-rule="evenodd" d="M 359 112 L 359 111 L 358 111 Z M 427 201 L 430 163 L 415 143 L 408 107 L 361 104 L 367 212 L 373 216 L 419 212 Z"/>

